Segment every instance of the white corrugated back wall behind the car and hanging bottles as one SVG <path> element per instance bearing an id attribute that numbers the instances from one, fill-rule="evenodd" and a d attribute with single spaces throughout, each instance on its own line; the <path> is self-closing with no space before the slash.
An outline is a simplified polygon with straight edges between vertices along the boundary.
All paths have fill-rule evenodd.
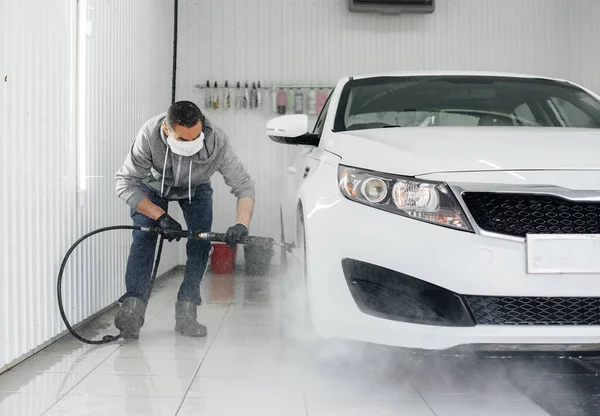
<path id="1" fill-rule="evenodd" d="M 431 15 L 352 14 L 347 0 L 181 0 L 178 99 L 202 103 L 206 80 L 334 85 L 344 75 L 471 69 L 562 76 L 600 91 L 600 2 L 436 0 Z M 243 84 L 242 84 L 243 85 Z M 252 232 L 279 236 L 278 199 L 289 149 L 264 132 L 274 115 L 207 110 L 257 180 Z M 314 118 L 313 118 L 314 120 Z M 235 201 L 215 180 L 215 229 Z"/>

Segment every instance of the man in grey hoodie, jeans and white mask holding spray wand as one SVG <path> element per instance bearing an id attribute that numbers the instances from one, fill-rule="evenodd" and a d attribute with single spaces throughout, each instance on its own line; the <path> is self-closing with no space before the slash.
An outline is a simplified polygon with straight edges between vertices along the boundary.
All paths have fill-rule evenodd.
<path id="1" fill-rule="evenodd" d="M 237 223 L 225 237 L 233 247 L 248 235 L 254 211 L 254 181 L 226 134 L 192 102 L 176 102 L 166 114 L 144 124 L 115 175 L 117 195 L 131 207 L 135 225 L 162 228 L 165 238 L 173 241 L 175 236 L 169 231 L 182 230 L 182 226 L 167 213 L 169 201 L 179 203 L 188 230 L 211 230 L 210 178 L 217 171 L 238 199 Z M 156 234 L 133 232 L 125 274 L 127 293 L 120 299 L 122 305 L 115 315 L 115 326 L 125 338 L 137 338 L 144 324 L 156 239 Z M 175 305 L 175 330 L 187 336 L 207 333 L 196 319 L 200 283 L 210 250 L 208 241 L 187 240 L 185 273 Z"/>

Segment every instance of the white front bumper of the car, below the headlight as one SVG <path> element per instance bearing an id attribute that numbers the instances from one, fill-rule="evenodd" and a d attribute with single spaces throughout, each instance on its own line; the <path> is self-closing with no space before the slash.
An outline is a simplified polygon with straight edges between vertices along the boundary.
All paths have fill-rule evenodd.
<path id="1" fill-rule="evenodd" d="M 340 195 L 305 206 L 305 212 L 309 299 L 315 329 L 323 337 L 419 349 L 600 344 L 600 326 L 482 325 L 470 305 L 449 312 L 458 314 L 451 325 L 365 310 L 347 283 L 344 259 L 414 277 L 463 302 L 467 295 L 600 298 L 600 275 L 530 275 L 524 242 L 415 221 Z"/>

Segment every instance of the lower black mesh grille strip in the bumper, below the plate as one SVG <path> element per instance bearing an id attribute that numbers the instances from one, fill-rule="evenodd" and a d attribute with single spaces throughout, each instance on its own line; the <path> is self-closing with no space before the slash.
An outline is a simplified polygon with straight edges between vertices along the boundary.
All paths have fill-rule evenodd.
<path id="1" fill-rule="evenodd" d="M 465 297 L 479 325 L 600 325 L 600 298 Z"/>

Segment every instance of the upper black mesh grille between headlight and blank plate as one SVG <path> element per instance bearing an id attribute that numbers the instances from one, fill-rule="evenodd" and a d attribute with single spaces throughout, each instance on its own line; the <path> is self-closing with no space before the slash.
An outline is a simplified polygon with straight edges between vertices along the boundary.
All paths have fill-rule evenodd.
<path id="1" fill-rule="evenodd" d="M 466 192 L 463 200 L 482 230 L 515 237 L 527 234 L 597 234 L 600 203 L 550 195 Z"/>

